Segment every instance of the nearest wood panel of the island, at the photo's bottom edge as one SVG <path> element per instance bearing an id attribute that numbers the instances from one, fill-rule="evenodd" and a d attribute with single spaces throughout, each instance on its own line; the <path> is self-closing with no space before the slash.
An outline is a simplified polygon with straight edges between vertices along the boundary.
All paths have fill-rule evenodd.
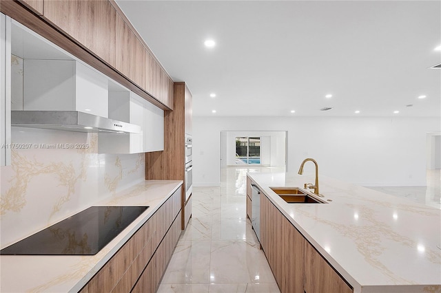
<path id="1" fill-rule="evenodd" d="M 308 242 L 305 246 L 305 292 L 353 292 L 345 280 L 323 259 L 314 246 L 311 246 Z"/>

